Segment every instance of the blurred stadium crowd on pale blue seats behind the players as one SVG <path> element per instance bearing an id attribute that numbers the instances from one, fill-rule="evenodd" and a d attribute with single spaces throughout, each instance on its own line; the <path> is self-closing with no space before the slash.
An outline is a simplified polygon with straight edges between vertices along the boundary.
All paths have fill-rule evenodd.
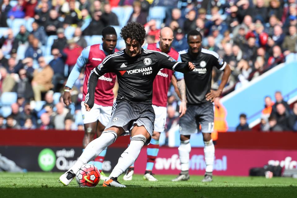
<path id="1" fill-rule="evenodd" d="M 188 48 L 189 30 L 199 30 L 203 47 L 217 52 L 231 66 L 224 95 L 297 51 L 296 0 L 0 0 L 0 5 L 0 91 L 2 97 L 15 92 L 17 98 L 16 103 L 1 104 L 1 128 L 83 129 L 84 75 L 71 92 L 72 106 L 66 108 L 60 96 L 82 49 L 101 43 L 97 35 L 108 25 L 116 28 L 119 37 L 121 26 L 137 21 L 145 26 L 146 43 L 157 42 L 160 28 L 168 26 L 174 31 L 172 46 L 177 51 Z M 124 48 L 123 40 L 118 39 L 117 48 Z M 221 72 L 214 69 L 212 88 L 220 82 Z M 170 128 L 177 123 L 178 97 L 174 88 L 168 95 Z M 277 97 L 275 107 L 271 98 L 270 103 L 266 100 L 276 113 L 263 117 L 264 131 L 273 128 L 273 120 L 281 125 L 284 112 L 293 116 L 287 105 L 283 104 L 285 111 L 275 105 Z M 295 127 L 290 130 L 297 130 L 296 104 L 292 112 Z"/>

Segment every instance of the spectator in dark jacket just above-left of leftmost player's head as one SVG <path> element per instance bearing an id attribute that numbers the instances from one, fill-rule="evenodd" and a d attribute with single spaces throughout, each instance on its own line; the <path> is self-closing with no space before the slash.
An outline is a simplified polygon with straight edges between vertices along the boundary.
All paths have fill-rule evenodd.
<path id="1" fill-rule="evenodd" d="M 89 26 L 83 31 L 85 36 L 102 35 L 102 29 L 105 27 L 105 24 L 101 18 L 101 15 L 101 11 L 94 13 L 93 19 Z"/>

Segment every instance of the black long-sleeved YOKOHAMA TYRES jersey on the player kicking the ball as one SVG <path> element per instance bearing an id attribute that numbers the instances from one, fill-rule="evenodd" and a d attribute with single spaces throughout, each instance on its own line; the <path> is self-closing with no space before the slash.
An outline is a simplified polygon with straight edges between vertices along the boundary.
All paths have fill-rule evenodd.
<path id="1" fill-rule="evenodd" d="M 190 71 L 188 63 L 177 62 L 166 53 L 153 50 L 141 49 L 141 54 L 136 57 L 128 56 L 124 50 L 109 55 L 91 71 L 85 103 L 93 107 L 98 78 L 113 72 L 117 74 L 119 83 L 116 100 L 151 104 L 153 81 L 162 68 L 182 73 Z"/>

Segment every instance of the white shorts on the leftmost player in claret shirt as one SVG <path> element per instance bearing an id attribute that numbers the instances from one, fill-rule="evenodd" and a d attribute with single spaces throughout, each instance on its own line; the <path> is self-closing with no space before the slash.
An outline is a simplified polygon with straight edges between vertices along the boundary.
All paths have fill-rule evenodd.
<path id="1" fill-rule="evenodd" d="M 84 101 L 81 102 L 81 113 L 84 124 L 96 122 L 99 120 L 101 124 L 106 126 L 111 118 L 112 106 L 101 106 L 94 104 L 90 111 L 85 110 Z"/>

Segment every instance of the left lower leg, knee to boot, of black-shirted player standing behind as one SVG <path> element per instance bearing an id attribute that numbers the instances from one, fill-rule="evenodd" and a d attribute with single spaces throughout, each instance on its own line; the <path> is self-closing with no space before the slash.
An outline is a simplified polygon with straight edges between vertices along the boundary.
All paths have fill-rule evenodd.
<path id="1" fill-rule="evenodd" d="M 190 160 L 190 136 L 181 135 L 181 144 L 178 147 L 179 159 L 181 160 L 181 173 L 177 178 L 171 180 L 173 182 L 186 181 L 190 179 L 189 176 L 189 160 Z"/>

